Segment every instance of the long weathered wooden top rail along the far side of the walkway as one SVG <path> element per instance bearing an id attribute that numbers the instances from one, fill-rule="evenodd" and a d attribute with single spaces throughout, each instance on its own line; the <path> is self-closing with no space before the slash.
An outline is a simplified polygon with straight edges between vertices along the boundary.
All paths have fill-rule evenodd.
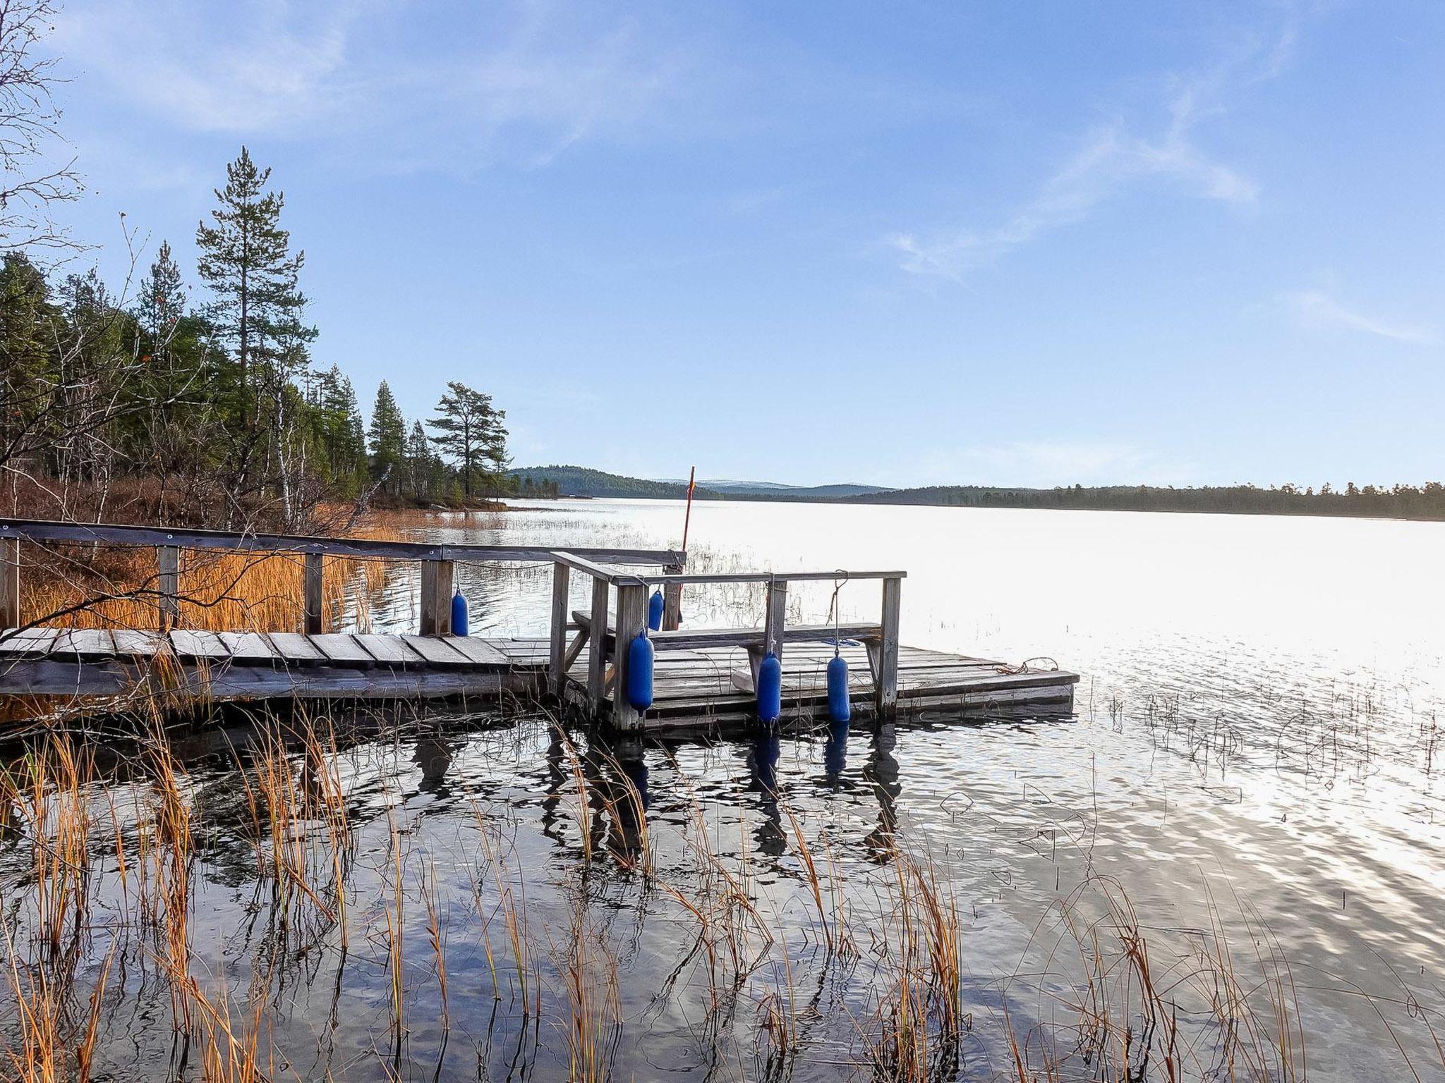
<path id="1" fill-rule="evenodd" d="M 328 556 L 389 560 L 519 560 L 551 563 L 556 559 L 555 546 L 381 542 L 360 537 L 308 537 L 305 534 L 263 534 L 123 523 L 61 523 L 43 518 L 0 518 L 0 542 L 3 540 L 173 546 L 176 549 L 230 549 L 267 553 L 324 553 Z M 669 567 L 682 565 L 686 560 L 683 553 L 670 549 L 581 547 L 568 552 L 582 560 L 603 560 L 613 565 Z"/>

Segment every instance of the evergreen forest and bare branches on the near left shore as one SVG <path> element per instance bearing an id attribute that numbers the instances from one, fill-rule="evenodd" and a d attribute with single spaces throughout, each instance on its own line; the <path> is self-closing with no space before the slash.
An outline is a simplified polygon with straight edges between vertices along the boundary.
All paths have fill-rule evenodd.
<path id="1" fill-rule="evenodd" d="M 519 488 L 490 394 L 454 381 L 407 419 L 383 380 L 366 420 L 345 371 L 315 362 L 305 251 L 247 147 L 217 169 L 194 267 L 121 214 L 129 266 L 101 274 L 98 247 L 58 224 L 84 182 L 48 153 L 65 136 L 65 74 L 38 53 L 52 16 L 33 0 L 0 22 L 4 514 L 308 531 Z"/>

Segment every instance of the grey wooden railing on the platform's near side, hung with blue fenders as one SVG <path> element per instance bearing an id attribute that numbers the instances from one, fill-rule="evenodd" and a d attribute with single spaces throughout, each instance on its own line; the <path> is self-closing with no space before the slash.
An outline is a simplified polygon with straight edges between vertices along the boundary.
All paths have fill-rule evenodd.
<path id="1" fill-rule="evenodd" d="M 642 575 L 633 570 L 607 567 L 604 562 L 579 550 L 555 553 L 552 572 L 552 643 L 549 677 L 553 693 L 565 693 L 568 671 L 572 669 L 582 647 L 591 640 L 587 666 L 587 699 L 591 713 L 605 710 L 608 689 L 613 690 L 611 719 L 618 729 L 634 729 L 640 715 L 623 690 L 627 687 L 630 651 L 627 645 L 647 628 L 647 589 L 663 592 L 662 631 L 653 632 L 656 650 L 686 650 L 702 645 L 744 647 L 751 658 L 756 686 L 757 663 L 767 651 L 782 657 L 788 641 L 840 638 L 861 640 L 868 651 L 868 666 L 873 670 L 874 706 L 880 718 L 894 713 L 897 708 L 899 676 L 899 617 L 903 596 L 903 579 L 907 572 L 853 572 L 835 569 L 831 572 L 682 572 L 681 566 L 666 569 L 662 575 Z M 571 573 L 591 576 L 591 609 L 578 614 L 578 634 L 568 643 L 568 599 L 571 596 Z M 877 624 L 847 625 L 802 625 L 789 628 L 788 583 L 816 580 L 879 579 L 883 583 L 881 606 Z M 681 630 L 681 596 L 688 583 L 764 583 L 767 599 L 763 608 L 763 628 L 705 628 Z M 617 592 L 616 624 L 610 619 L 611 591 Z M 608 680 L 608 661 L 611 679 Z"/>

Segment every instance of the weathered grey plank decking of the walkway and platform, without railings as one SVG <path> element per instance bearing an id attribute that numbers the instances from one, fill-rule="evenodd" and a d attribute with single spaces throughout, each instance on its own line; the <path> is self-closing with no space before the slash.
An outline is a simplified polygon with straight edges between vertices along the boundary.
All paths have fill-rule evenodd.
<path id="1" fill-rule="evenodd" d="M 853 699 L 874 700 L 867 650 L 845 643 Z M 564 696 L 582 705 L 590 645 L 568 670 Z M 783 705 L 792 719 L 827 715 L 832 645 L 789 644 Z M 0 631 L 0 696 L 126 696 L 166 690 L 211 699 L 397 699 L 542 696 L 545 638 L 364 635 L 351 632 L 169 632 L 30 628 Z M 608 674 L 611 676 L 611 674 Z M 749 653 L 740 645 L 657 653 L 655 703 L 642 729 L 744 723 L 756 718 Z M 1014 671 L 1000 661 L 903 647 L 899 713 L 1023 705 L 1066 710 L 1078 676 Z"/>

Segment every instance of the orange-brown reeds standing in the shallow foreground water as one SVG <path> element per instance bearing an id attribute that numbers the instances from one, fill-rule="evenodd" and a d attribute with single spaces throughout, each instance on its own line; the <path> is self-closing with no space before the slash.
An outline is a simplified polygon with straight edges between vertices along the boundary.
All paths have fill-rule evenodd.
<path id="1" fill-rule="evenodd" d="M 971 908 L 906 822 L 841 852 L 798 794 L 722 816 L 705 762 L 653 754 L 659 813 L 611 749 L 542 725 L 540 803 L 478 783 L 441 819 L 405 783 L 419 738 L 357 745 L 321 715 L 260 718 L 204 762 L 165 731 L 105 767 L 72 738 L 36 742 L 0 775 L 0 1074 L 405 1079 L 471 1057 L 483 1077 L 607 1080 L 639 1074 L 660 1032 L 668 1058 L 730 1079 L 1308 1077 L 1290 960 L 1208 884 L 1207 923 L 1169 930 L 1088 875 L 1014 972 L 971 975 Z M 455 745 L 488 764 L 536 748 L 516 731 Z M 536 859 L 533 816 L 565 861 Z M 218 900 L 220 941 L 198 931 Z M 298 1018 L 328 988 L 328 1022 Z M 176 1034 L 163 1069 L 116 1041 L 156 996 Z M 1435 1008 L 1367 999 L 1405 1064 L 1445 1070 Z M 367 1018 L 371 1048 L 337 1040 Z"/>

